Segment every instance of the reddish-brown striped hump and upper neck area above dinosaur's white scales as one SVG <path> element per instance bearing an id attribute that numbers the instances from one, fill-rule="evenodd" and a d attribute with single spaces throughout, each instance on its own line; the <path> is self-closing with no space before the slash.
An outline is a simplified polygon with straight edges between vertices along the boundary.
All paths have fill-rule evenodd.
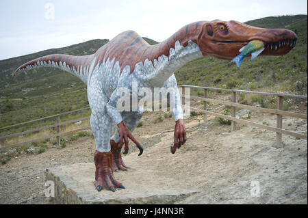
<path id="1" fill-rule="evenodd" d="M 187 46 L 189 41 L 196 42 L 204 23 L 205 21 L 190 23 L 155 45 L 149 45 L 134 31 L 125 31 L 111 40 L 109 47 L 106 46 L 101 51 L 97 51 L 97 62 L 103 62 L 103 58 L 110 60 L 115 58 L 115 62 L 119 61 L 120 74 L 127 66 L 129 66 L 131 74 L 135 70 L 136 64 L 140 62 L 144 64 L 146 59 L 154 64 L 155 59 L 158 60 L 159 57 L 169 58 L 170 50 L 175 49 L 176 42 L 179 42 L 183 47 Z M 118 46 L 119 43 L 130 44 L 130 46 L 122 50 Z"/>

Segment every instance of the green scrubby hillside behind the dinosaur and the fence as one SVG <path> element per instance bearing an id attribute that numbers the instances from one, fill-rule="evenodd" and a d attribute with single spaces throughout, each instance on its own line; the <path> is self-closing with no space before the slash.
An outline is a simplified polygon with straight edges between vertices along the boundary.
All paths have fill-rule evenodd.
<path id="1" fill-rule="evenodd" d="M 175 72 L 178 84 L 307 95 L 307 15 L 267 17 L 246 24 L 291 29 L 298 35 L 296 47 L 282 57 L 257 57 L 253 63 L 246 59 L 240 69 L 214 57 L 196 59 Z M 157 43 L 144 39 L 149 44 Z M 16 79 L 12 79 L 11 73 L 21 64 L 42 55 L 87 55 L 108 41 L 91 40 L 0 61 L 0 127 L 88 107 L 86 85 L 67 72 L 38 68 L 27 70 Z"/>

